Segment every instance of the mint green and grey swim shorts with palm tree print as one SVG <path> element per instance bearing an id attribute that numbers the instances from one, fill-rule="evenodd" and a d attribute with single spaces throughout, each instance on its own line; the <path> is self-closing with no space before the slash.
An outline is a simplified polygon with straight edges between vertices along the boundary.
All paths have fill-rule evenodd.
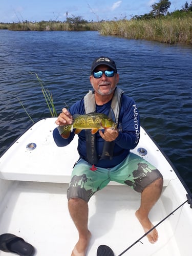
<path id="1" fill-rule="evenodd" d="M 108 185 L 110 181 L 129 185 L 141 193 L 153 181 L 163 178 L 156 167 L 134 153 L 130 153 L 112 168 L 96 167 L 93 171 L 91 166 L 83 159 L 75 164 L 67 191 L 68 200 L 81 198 L 88 202 L 96 191 Z"/>

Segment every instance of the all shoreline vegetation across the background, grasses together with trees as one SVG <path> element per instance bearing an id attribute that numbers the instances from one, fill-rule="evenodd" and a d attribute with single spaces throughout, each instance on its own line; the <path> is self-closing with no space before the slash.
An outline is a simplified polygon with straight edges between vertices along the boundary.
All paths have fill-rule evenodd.
<path id="1" fill-rule="evenodd" d="M 101 35 L 127 39 L 145 39 L 167 44 L 192 45 L 192 2 L 185 2 L 181 10 L 168 13 L 171 3 L 160 0 L 152 5 L 148 14 L 119 20 L 88 22 L 80 16 L 67 17 L 66 21 L 0 23 L 0 29 L 13 31 L 98 31 Z"/>

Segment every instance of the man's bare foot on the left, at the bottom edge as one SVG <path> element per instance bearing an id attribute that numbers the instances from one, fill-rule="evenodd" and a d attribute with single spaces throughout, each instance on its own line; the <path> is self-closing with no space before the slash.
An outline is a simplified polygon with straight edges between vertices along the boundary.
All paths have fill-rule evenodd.
<path id="1" fill-rule="evenodd" d="M 91 232 L 88 230 L 88 236 L 86 238 L 79 238 L 76 243 L 71 256 L 86 256 L 86 251 L 91 238 Z"/>

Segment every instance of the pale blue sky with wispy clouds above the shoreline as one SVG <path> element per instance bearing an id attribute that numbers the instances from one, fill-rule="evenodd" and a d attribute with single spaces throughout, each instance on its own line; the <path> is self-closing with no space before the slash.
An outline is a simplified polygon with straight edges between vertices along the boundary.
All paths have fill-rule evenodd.
<path id="1" fill-rule="evenodd" d="M 181 9 L 187 0 L 169 0 L 168 11 Z M 81 16 L 91 21 L 112 20 L 134 15 L 142 15 L 152 10 L 151 5 L 159 0 L 0 0 L 0 22 L 11 23 L 22 20 L 66 20 Z M 190 4 L 191 1 L 188 0 Z"/>

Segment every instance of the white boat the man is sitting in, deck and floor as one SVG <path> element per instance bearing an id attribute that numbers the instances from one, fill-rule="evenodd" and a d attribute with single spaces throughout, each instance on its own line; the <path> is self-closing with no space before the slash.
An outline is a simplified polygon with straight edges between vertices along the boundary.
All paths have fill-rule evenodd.
<path id="1" fill-rule="evenodd" d="M 78 240 L 66 197 L 79 158 L 78 136 L 70 145 L 57 147 L 52 136 L 55 120 L 34 123 L 0 158 L 0 234 L 22 237 L 38 256 L 70 256 Z M 140 194 L 111 182 L 89 202 L 92 238 L 87 255 L 94 256 L 100 245 L 108 245 L 114 255 L 126 250 L 123 254 L 132 256 L 191 256 L 190 191 L 142 127 L 140 142 L 132 152 L 154 164 L 164 177 L 162 195 L 150 212 L 151 221 L 158 225 L 158 242 L 148 242 L 135 217 Z M 0 251 L 0 255 L 15 254 Z"/>

